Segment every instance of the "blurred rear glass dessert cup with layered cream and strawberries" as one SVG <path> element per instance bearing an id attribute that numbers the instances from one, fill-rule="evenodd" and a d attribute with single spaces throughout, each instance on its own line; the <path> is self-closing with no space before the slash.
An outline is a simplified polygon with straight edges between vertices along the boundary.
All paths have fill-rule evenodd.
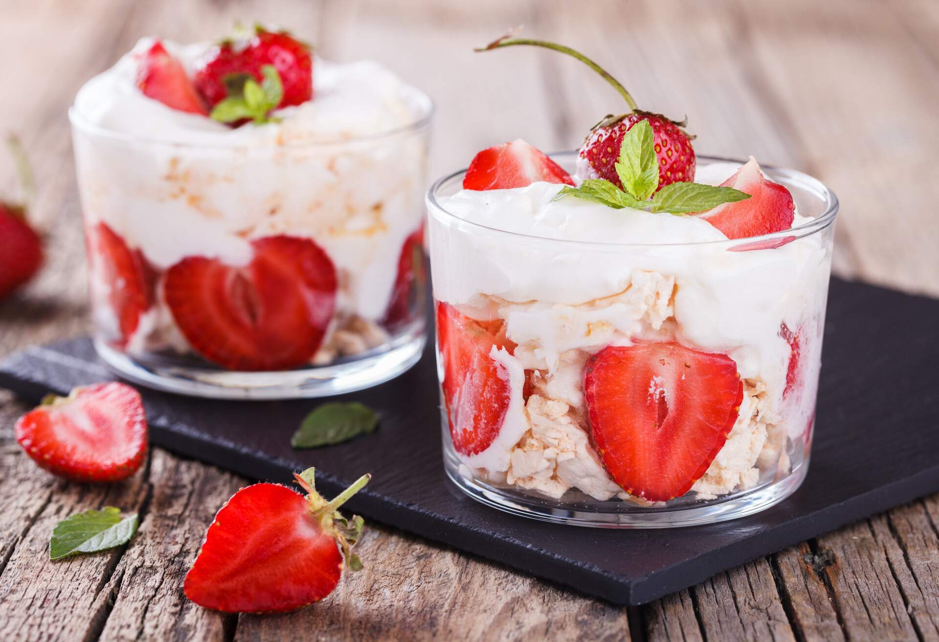
<path id="1" fill-rule="evenodd" d="M 224 145 L 117 133 L 72 108 L 101 359 L 220 399 L 346 393 L 417 363 L 433 106 L 408 101 L 413 123 L 387 133 Z"/>

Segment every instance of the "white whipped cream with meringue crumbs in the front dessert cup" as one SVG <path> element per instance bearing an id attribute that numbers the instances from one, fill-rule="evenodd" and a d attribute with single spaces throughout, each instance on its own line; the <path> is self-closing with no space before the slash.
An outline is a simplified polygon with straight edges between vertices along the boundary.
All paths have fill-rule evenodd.
<path id="1" fill-rule="evenodd" d="M 738 167 L 705 164 L 696 180 L 718 184 Z M 772 478 L 786 439 L 800 440 L 814 412 L 831 261 L 823 235 L 728 251 L 720 243 L 727 237 L 701 218 L 554 200 L 561 188 L 535 182 L 462 190 L 439 198 L 453 216 L 431 212 L 435 297 L 470 318 L 504 321 L 517 347 L 503 361 L 535 371 L 524 438 L 508 448 L 511 439 L 499 440 L 464 462 L 484 478 L 550 496 L 570 488 L 612 496 L 602 465 L 589 463 L 598 459 L 587 434 L 582 369 L 604 347 L 642 339 L 726 353 L 747 382 L 727 443 L 693 489 L 700 498 L 750 488 L 763 469 L 772 468 Z M 793 227 L 809 220 L 797 214 Z M 790 390 L 792 348 L 783 324 L 803 337 L 800 381 Z M 515 426 L 513 436 L 519 431 Z M 571 452 L 581 453 L 577 479 L 562 474 L 559 456 Z"/>

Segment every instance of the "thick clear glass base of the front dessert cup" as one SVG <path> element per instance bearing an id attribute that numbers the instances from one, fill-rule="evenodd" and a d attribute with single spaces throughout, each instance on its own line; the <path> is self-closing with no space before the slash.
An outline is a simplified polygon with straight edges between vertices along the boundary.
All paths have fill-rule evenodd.
<path id="1" fill-rule="evenodd" d="M 456 487 L 486 506 L 544 522 L 597 528 L 671 528 L 714 524 L 745 517 L 768 509 L 793 494 L 808 473 L 807 458 L 785 478 L 767 482 L 744 493 L 700 500 L 674 508 L 641 508 L 616 500 L 601 502 L 586 498 L 586 501 L 562 501 L 550 497 L 540 498 L 531 491 L 500 487 L 473 478 L 469 475 L 469 468 L 450 453 L 445 452 L 444 460 L 447 477 Z"/>

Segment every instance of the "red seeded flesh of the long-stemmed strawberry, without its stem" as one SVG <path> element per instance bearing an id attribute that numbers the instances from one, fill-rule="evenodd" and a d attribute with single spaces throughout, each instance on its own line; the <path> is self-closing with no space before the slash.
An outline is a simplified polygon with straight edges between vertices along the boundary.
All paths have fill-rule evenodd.
<path id="1" fill-rule="evenodd" d="M 623 188 L 615 167 L 620 158 L 623 136 L 642 120 L 648 120 L 652 126 L 655 155 L 658 157 L 658 186 L 695 180 L 695 150 L 691 147 L 691 136 L 664 116 L 639 111 L 606 117 L 593 127 L 580 147 L 580 158 L 590 163 L 596 173 L 592 178 L 606 179 Z"/>

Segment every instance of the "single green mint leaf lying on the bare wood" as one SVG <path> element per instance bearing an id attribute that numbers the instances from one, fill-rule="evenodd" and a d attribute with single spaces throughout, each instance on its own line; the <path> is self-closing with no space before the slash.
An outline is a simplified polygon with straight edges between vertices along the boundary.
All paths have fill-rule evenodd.
<path id="1" fill-rule="evenodd" d="M 137 532 L 137 513 L 120 517 L 113 506 L 85 510 L 55 525 L 49 540 L 49 558 L 62 559 L 79 553 L 96 553 L 131 540 Z"/>

